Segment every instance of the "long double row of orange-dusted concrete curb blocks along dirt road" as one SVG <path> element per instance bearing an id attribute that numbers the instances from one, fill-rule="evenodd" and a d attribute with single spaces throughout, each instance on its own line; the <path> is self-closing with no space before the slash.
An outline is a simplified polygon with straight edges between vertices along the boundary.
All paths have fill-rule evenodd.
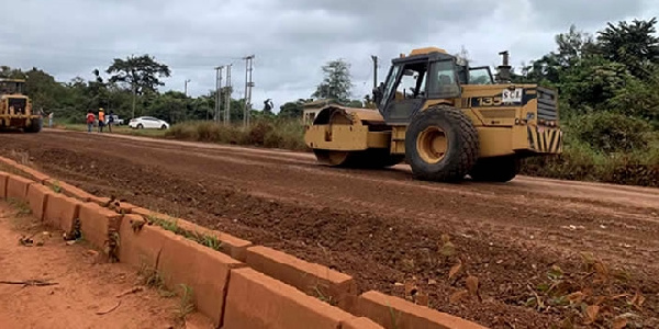
<path id="1" fill-rule="evenodd" d="M 111 261 L 150 270 L 171 291 L 190 290 L 215 328 L 485 328 L 378 292 L 357 296 L 351 276 L 326 266 L 29 174 L 38 182 L 0 172 L 0 196 L 27 202 L 35 217 L 66 234 L 79 230 Z M 213 239 L 219 243 L 206 243 Z"/>

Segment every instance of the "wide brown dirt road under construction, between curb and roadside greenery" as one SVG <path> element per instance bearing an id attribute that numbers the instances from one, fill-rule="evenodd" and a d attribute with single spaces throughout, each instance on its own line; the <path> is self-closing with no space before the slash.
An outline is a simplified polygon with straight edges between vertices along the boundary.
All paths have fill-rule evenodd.
<path id="1" fill-rule="evenodd" d="M 29 155 L 91 193 L 331 265 L 362 290 L 402 296 L 414 280 L 431 307 L 492 328 L 580 324 L 597 302 L 597 321 L 634 313 L 630 322 L 659 327 L 657 189 L 525 177 L 428 183 L 403 166 L 340 170 L 308 154 L 85 133 L 0 141 L 2 155 Z M 469 275 L 480 300 L 456 294 Z"/>

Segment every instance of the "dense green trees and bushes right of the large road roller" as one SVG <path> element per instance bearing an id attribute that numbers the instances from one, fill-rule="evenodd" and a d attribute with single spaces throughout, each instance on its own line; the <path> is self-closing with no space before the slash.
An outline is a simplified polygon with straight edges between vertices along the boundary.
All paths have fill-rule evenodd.
<path id="1" fill-rule="evenodd" d="M 659 186 L 657 20 L 608 23 L 596 36 L 556 36 L 557 49 L 518 82 L 559 90 L 565 152 L 525 161 L 526 174 Z"/>

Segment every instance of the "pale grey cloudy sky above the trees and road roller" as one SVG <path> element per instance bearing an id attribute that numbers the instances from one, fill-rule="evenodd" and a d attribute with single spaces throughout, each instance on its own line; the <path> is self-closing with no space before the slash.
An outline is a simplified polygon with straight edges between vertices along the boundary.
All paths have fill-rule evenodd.
<path id="1" fill-rule="evenodd" d="M 415 47 L 463 46 L 474 65 L 513 65 L 554 49 L 570 24 L 595 32 L 607 21 L 659 15 L 656 0 L 0 0 L 0 65 L 37 67 L 58 81 L 91 79 L 112 58 L 150 54 L 172 76 L 166 89 L 208 93 L 213 67 L 233 64 L 234 98 L 244 92 L 246 55 L 254 60 L 253 103 L 275 106 L 309 98 L 321 66 L 351 65 L 355 98 L 372 86 L 370 55 L 390 59 Z"/>

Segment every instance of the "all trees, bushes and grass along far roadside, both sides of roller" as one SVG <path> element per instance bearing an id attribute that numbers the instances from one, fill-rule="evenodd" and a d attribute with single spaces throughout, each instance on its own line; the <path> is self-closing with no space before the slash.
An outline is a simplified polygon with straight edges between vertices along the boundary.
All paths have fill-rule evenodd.
<path id="1" fill-rule="evenodd" d="M 556 48 L 522 64 L 514 82 L 538 82 L 559 91 L 560 124 L 565 131 L 563 154 L 524 161 L 529 175 L 659 186 L 659 37 L 657 20 L 606 23 L 594 35 L 570 26 L 556 36 Z M 457 54 L 469 60 L 468 52 Z M 368 95 L 353 99 L 350 65 L 342 59 L 322 67 L 324 79 L 310 99 L 291 100 L 273 113 L 250 109 L 252 125 L 242 127 L 244 100 L 231 99 L 230 118 L 213 121 L 215 91 L 197 98 L 169 90 L 158 91 L 169 68 L 149 55 L 114 58 L 92 79 L 75 78 L 59 83 L 37 68 L 29 71 L 0 67 L 0 77 L 25 78 L 26 92 L 35 109 L 54 112 L 67 129 L 85 131 L 87 110 L 113 110 L 121 118 L 152 115 L 174 124 L 170 129 L 132 131 L 118 134 L 182 140 L 249 145 L 305 150 L 302 106 L 327 99 L 353 107 L 372 107 Z M 133 92 L 135 91 L 135 92 Z M 236 94 L 222 89 L 222 95 Z M 267 103 L 267 102 L 266 102 Z M 265 103 L 265 104 L 266 104 Z M 135 104 L 135 105 L 133 105 Z M 219 106 L 220 117 L 225 111 Z"/>

